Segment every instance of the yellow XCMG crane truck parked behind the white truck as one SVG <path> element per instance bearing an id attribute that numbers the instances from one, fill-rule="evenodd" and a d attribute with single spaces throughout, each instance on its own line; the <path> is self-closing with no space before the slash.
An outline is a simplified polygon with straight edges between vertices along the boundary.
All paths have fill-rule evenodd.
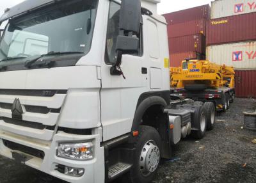
<path id="1" fill-rule="evenodd" d="M 171 93 L 198 100 L 197 104 L 213 102 L 216 110 L 226 112 L 235 98 L 233 67 L 187 59 L 180 67 L 171 67 L 170 76 Z"/>

